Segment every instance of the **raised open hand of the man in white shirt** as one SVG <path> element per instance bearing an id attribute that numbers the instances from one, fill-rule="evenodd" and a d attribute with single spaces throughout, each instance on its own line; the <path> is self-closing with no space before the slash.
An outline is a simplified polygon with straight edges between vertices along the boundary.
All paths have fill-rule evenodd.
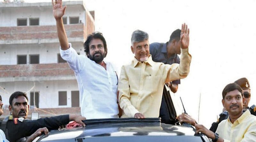
<path id="1" fill-rule="evenodd" d="M 67 6 L 62 7 L 62 0 L 52 0 L 52 12 L 56 20 L 60 20 L 65 14 Z"/>

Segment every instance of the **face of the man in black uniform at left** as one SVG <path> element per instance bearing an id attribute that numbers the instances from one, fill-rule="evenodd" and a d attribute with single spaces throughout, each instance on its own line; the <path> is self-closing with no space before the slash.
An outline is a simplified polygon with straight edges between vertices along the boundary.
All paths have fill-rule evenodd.
<path id="1" fill-rule="evenodd" d="M 17 99 L 12 100 L 12 106 L 9 106 L 9 110 L 12 112 L 14 118 L 27 118 L 28 116 L 28 100 L 24 96 L 19 96 Z"/>

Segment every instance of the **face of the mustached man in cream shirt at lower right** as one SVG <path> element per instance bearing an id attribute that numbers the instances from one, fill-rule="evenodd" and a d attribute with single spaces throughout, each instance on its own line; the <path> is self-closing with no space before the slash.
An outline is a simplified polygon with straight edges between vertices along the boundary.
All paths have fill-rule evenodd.
<path id="1" fill-rule="evenodd" d="M 241 114 L 243 102 L 244 98 L 238 90 L 228 92 L 224 100 L 222 100 L 223 107 L 225 107 L 228 113 L 233 116 Z"/>

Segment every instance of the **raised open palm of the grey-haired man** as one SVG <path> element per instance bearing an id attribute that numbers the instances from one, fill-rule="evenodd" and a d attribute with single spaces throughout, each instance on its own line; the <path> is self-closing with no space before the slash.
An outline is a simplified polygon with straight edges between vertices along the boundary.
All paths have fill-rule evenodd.
<path id="1" fill-rule="evenodd" d="M 180 33 L 180 47 L 181 49 L 187 49 L 189 45 L 189 28 L 186 23 L 181 25 Z"/>

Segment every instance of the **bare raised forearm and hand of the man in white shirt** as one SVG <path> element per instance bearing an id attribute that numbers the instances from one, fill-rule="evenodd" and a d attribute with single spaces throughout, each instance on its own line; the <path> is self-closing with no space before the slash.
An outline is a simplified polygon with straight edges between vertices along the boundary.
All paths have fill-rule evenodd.
<path id="1" fill-rule="evenodd" d="M 62 16 L 65 14 L 66 8 L 67 6 L 62 7 L 62 0 L 55 0 L 55 2 L 52 0 L 52 12 L 56 20 L 57 33 L 62 50 L 67 50 L 69 48 L 68 37 L 65 32 L 62 20 Z"/>

